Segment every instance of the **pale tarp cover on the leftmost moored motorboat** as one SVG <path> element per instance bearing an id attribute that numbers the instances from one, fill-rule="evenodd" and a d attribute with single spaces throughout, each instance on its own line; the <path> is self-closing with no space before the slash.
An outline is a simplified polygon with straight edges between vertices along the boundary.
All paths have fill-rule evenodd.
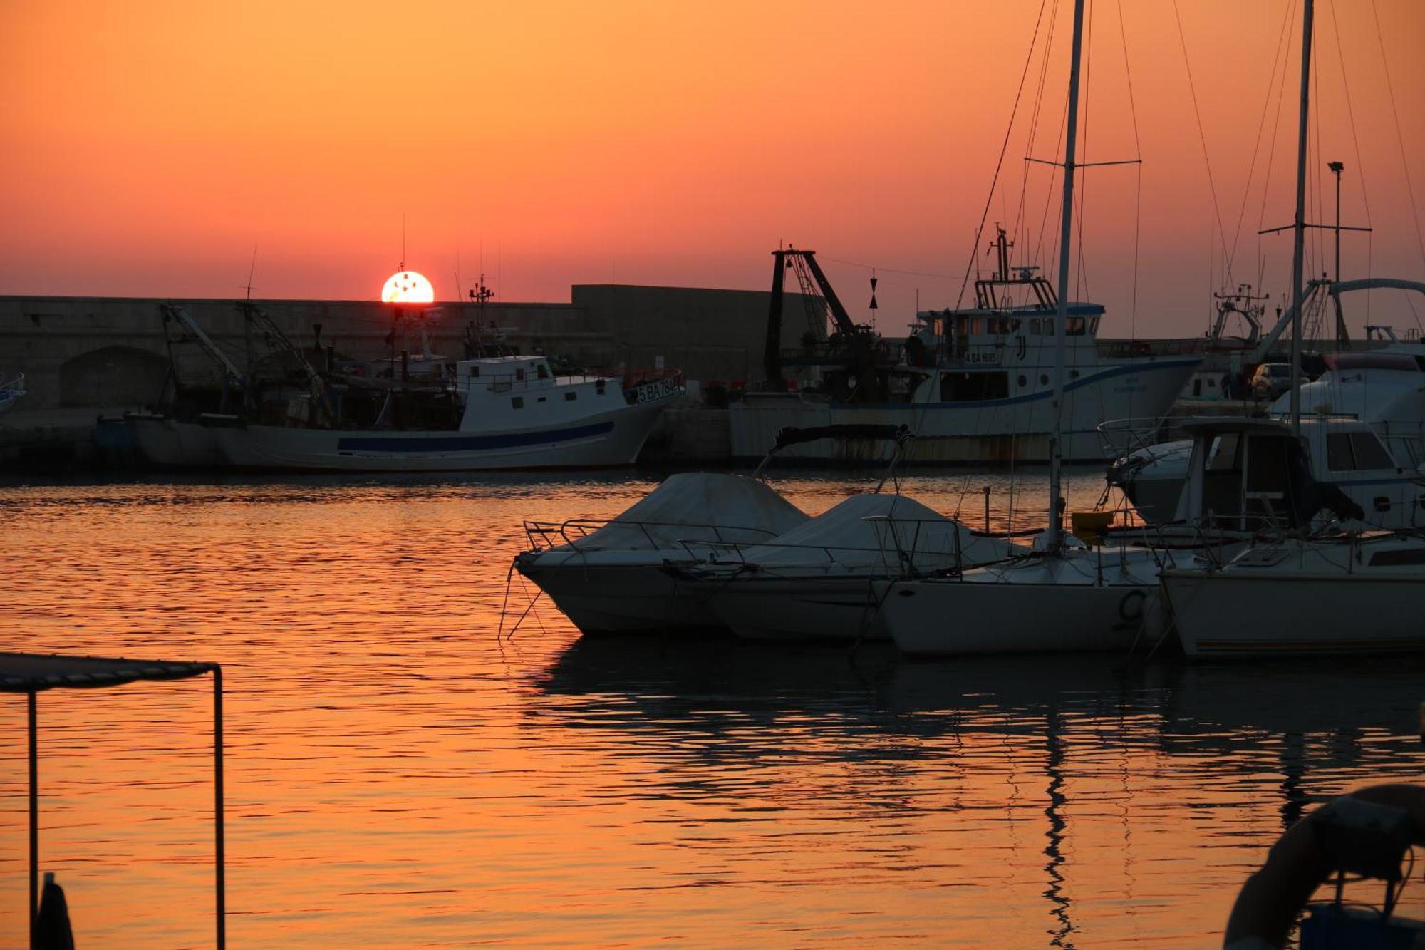
<path id="1" fill-rule="evenodd" d="M 683 541 L 757 543 L 808 518 L 760 479 L 680 472 L 573 546 L 580 551 L 657 551 L 675 548 Z"/>

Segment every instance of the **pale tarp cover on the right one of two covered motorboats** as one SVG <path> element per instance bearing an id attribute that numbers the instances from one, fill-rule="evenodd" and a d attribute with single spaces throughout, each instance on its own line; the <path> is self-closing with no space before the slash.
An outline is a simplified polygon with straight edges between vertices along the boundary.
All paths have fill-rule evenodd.
<path id="1" fill-rule="evenodd" d="M 767 566 L 826 565 L 851 568 L 915 568 L 921 572 L 1006 558 L 1016 546 L 998 538 L 979 538 L 913 498 L 893 494 L 852 495 L 824 515 L 748 548 L 744 559 Z"/>

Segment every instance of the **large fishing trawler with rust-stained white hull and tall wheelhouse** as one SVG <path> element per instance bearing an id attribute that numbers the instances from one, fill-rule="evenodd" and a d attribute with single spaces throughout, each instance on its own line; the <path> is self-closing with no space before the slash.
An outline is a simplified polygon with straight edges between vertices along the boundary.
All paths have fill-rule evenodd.
<path id="1" fill-rule="evenodd" d="M 1003 230 L 996 247 L 999 270 L 975 281 L 976 305 L 916 314 L 899 365 L 822 369 L 812 385 L 748 392 L 732 404 L 732 455 L 758 455 L 784 427 L 858 424 L 908 427 L 916 438 L 913 462 L 1045 462 L 1059 422 L 1060 458 L 1103 461 L 1103 419 L 1156 418 L 1171 408 L 1200 355 L 1100 344 L 1103 307 L 1062 302 L 1066 291 L 1037 268 L 1010 265 Z M 836 305 L 828 300 L 828 307 Z M 1056 325 L 1063 327 L 1057 339 Z M 889 448 L 845 438 L 788 455 L 868 462 L 889 458 Z"/>

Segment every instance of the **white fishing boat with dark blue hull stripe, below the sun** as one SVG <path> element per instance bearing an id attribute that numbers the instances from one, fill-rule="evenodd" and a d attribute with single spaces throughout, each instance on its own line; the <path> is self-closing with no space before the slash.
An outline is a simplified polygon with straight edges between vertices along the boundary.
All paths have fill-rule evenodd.
<path id="1" fill-rule="evenodd" d="M 460 359 L 449 387 L 380 394 L 369 427 L 343 425 L 329 387 L 291 397 L 289 425 L 215 427 L 242 469 L 449 472 L 631 465 L 678 374 L 559 377 L 544 357 Z M 415 424 L 403 417 L 416 417 Z"/>

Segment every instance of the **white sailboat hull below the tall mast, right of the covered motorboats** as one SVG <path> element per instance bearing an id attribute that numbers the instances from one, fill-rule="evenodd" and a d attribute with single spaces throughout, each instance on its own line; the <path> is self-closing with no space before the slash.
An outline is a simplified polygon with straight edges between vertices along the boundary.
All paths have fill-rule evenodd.
<path id="1" fill-rule="evenodd" d="M 919 582 L 918 588 L 932 582 Z M 1153 585 L 933 582 L 882 586 L 881 612 L 911 656 L 1127 650 Z M 1006 623 L 1006 618 L 1016 622 Z M 1023 618 L 1039 622 L 1025 623 Z"/>

